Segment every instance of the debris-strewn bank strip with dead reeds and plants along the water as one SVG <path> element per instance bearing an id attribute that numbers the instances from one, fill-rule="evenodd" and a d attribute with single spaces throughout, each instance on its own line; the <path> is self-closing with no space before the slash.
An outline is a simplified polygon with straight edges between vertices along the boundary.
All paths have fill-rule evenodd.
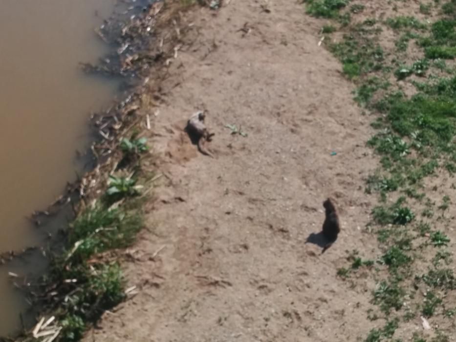
<path id="1" fill-rule="evenodd" d="M 160 97 L 156 89 L 166 77 L 163 65 L 174 59 L 181 36 L 177 12 L 183 13 L 190 5 L 132 1 L 126 3 L 124 12 L 96 29 L 99 38 L 114 45 L 116 52 L 100 63 L 80 66 L 87 73 L 122 77 L 129 95 L 92 116 L 98 137 L 88 153 L 94 161 L 93 171 L 68 184 L 55 203 L 31 217 L 41 225 L 49 213 L 70 207 L 76 218 L 61 232 L 63 239 L 57 238 L 50 248 L 27 251 L 48 258 L 50 267 L 43 278 L 10 272 L 12 282 L 28 295 L 34 310 L 41 308 L 42 312 L 38 324 L 32 330 L 24 326 L 23 337 L 17 341 L 79 340 L 87 324 L 131 295 L 132 290 L 124 287 L 115 251 L 129 246 L 143 228 L 142 204 L 161 177 L 152 166 L 144 168 L 154 158 L 141 135 L 153 125 L 153 101 Z M 156 39 L 159 35 L 162 40 Z M 156 78 L 146 79 L 152 72 Z M 8 252 L 3 262 L 15 254 L 25 256 Z"/>

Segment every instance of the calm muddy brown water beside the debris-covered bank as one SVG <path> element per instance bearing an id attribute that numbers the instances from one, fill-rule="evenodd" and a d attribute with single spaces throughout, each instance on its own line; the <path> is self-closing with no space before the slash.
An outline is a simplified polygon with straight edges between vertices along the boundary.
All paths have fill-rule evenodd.
<path id="1" fill-rule="evenodd" d="M 118 94 L 118 82 L 78 69 L 109 52 L 93 28 L 115 6 L 116 0 L 0 1 L 0 252 L 43 245 L 46 230 L 65 223 L 36 228 L 25 216 L 75 179 L 75 151 L 91 139 L 90 113 Z M 32 259 L 0 267 L 0 336 L 19 327 L 28 305 L 8 272 L 39 272 L 43 263 Z"/>

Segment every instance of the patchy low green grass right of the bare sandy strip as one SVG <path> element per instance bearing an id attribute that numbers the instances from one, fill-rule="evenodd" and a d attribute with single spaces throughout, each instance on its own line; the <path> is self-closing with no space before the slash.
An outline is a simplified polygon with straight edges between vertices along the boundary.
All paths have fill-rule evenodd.
<path id="1" fill-rule="evenodd" d="M 389 2 L 385 10 L 402 10 L 406 1 L 401 2 Z M 362 10 L 362 6 L 346 4 L 333 12 L 332 18 L 339 20 Z M 402 319 L 447 311 L 449 317 L 456 315 L 454 305 L 442 296 L 456 286 L 452 254 L 445 248 L 450 239 L 444 233 L 450 222 L 444 214 L 452 204 L 448 196 L 431 201 L 425 181 L 440 175 L 441 170 L 450 176 L 456 173 L 456 68 L 446 61 L 456 57 L 456 0 L 423 1 L 419 11 L 429 19 L 410 15 L 339 25 L 342 40 L 326 44 L 353 81 L 353 98 L 363 108 L 363 115 L 372 117 L 371 127 L 377 131 L 367 144 L 381 158 L 381 167 L 366 179 L 365 191 L 378 195 L 379 204 L 372 209 L 367 228 L 377 235 L 382 252 L 367 260 L 352 254 L 349 264 L 338 270 L 339 276 L 347 278 L 366 261 L 370 266 L 371 260 L 376 260 L 375 267 L 363 270 L 371 272 L 377 282 L 372 302 L 390 320 L 385 326 L 388 329 L 371 329 L 368 342 L 393 339 Z M 385 38 L 391 40 L 391 34 L 395 45 L 383 45 Z M 431 191 L 438 190 L 435 183 Z M 401 194 L 409 203 L 406 197 L 391 201 Z M 422 217 L 415 223 L 417 215 Z M 422 263 L 428 266 L 425 274 L 416 269 Z M 382 276 L 384 272 L 389 278 Z M 355 277 L 349 283 L 356 286 Z M 370 313 L 369 317 L 379 318 Z M 408 339 L 426 340 L 418 334 Z M 448 338 L 437 333 L 427 341 Z"/>

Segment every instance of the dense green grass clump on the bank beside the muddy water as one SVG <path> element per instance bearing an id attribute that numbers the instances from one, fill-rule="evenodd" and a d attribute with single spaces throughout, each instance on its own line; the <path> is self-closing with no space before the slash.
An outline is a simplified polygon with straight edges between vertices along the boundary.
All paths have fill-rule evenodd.
<path id="1" fill-rule="evenodd" d="M 54 307 L 55 300 L 62 299 L 53 312 L 63 327 L 62 341 L 78 341 L 86 322 L 97 321 L 124 299 L 119 265 L 97 256 L 129 246 L 141 227 L 139 214 L 103 205 L 87 209 L 70 226 L 65 253 L 52 259 L 51 272 L 43 278 L 45 288 L 53 293 L 47 304 Z"/>

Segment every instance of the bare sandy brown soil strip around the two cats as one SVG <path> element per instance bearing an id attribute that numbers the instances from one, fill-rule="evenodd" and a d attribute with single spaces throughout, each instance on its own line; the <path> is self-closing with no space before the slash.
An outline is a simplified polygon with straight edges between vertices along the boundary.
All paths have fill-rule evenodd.
<path id="1" fill-rule="evenodd" d="M 86 341 L 357 341 L 384 323 L 366 314 L 374 280 L 337 276 L 349 251 L 377 252 L 363 233 L 372 118 L 302 4 L 271 1 L 267 13 L 264 1 L 226 2 L 191 14 L 192 43 L 162 85 L 150 139 L 166 177 L 124 263 L 138 294 Z M 214 159 L 182 130 L 199 109 Z M 328 196 L 342 232 L 322 254 L 306 240 Z"/>

